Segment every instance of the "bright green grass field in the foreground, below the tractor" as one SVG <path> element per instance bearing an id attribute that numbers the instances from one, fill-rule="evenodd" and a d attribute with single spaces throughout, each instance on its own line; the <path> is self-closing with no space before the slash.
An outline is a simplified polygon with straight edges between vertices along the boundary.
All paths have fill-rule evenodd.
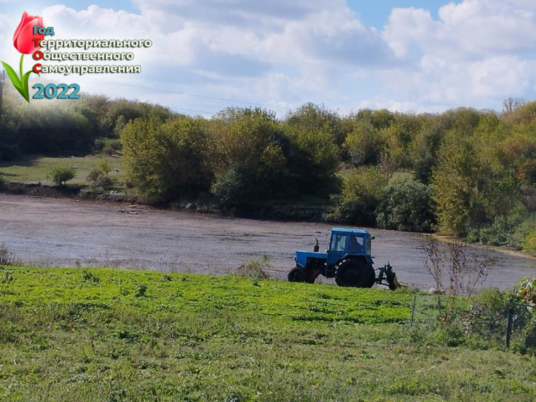
<path id="1" fill-rule="evenodd" d="M 411 293 L 0 269 L 0 400 L 534 401 L 536 358 L 407 327 Z"/>

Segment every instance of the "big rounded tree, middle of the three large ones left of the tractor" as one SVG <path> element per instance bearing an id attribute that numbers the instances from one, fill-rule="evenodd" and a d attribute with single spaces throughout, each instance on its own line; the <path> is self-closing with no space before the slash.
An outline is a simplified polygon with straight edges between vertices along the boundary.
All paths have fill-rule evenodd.
<path id="1" fill-rule="evenodd" d="M 226 109 L 209 125 L 212 193 L 226 206 L 288 195 L 291 149 L 274 114 Z"/>

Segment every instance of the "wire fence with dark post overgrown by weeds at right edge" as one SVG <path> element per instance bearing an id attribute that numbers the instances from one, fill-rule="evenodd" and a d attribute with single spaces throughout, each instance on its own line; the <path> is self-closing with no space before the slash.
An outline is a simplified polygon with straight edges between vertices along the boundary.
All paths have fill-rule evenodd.
<path id="1" fill-rule="evenodd" d="M 443 333 L 447 343 L 516 348 L 536 354 L 536 309 L 490 293 L 485 300 L 415 294 L 409 326 L 425 334 Z"/>

